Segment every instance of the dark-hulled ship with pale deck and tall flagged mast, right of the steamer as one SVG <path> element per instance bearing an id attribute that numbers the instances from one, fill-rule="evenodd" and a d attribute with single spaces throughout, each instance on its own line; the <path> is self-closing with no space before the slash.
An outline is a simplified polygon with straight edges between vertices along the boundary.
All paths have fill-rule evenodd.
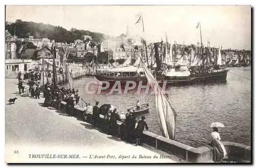
<path id="1" fill-rule="evenodd" d="M 164 75 L 165 80 L 167 80 L 168 84 L 189 85 L 193 83 L 212 83 L 226 80 L 228 69 L 224 69 L 222 67 L 220 68 L 220 66 L 218 66 L 216 69 L 204 70 L 207 69 L 205 68 L 205 65 L 208 61 L 202 56 L 203 44 L 200 22 L 198 23 L 197 28 L 199 26 L 201 46 L 199 46 L 198 43 L 198 54 L 194 57 L 194 60 L 190 64 L 189 68 L 188 66 L 182 64 L 183 57 L 181 57 L 181 59 L 177 63 L 167 65 L 167 70 L 164 72 Z M 217 64 L 222 65 L 221 59 L 221 52 L 219 49 L 219 58 Z"/>

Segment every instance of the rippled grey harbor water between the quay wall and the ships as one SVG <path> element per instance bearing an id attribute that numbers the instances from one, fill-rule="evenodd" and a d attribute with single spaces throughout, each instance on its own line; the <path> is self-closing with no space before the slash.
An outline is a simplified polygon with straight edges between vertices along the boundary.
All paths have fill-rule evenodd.
<path id="1" fill-rule="evenodd" d="M 251 145 L 251 67 L 228 67 L 227 81 L 216 84 L 168 87 L 168 99 L 177 112 L 175 140 L 192 147 L 200 147 L 211 142 L 209 124 L 221 122 L 226 128 L 219 128 L 222 141 Z M 232 74 L 234 73 L 234 74 Z M 235 75 L 236 74 L 236 75 Z M 242 78 L 244 77 L 244 78 Z M 245 79 L 247 78 L 247 79 Z M 79 89 L 80 98 L 85 102 L 99 105 L 112 104 L 118 111 L 148 103 L 150 112 L 146 117 L 149 130 L 161 135 L 157 118 L 154 94 L 141 94 L 137 90 L 127 94 L 101 91 L 100 94 L 87 94 L 86 84 L 94 77 L 74 81 Z M 69 87 L 68 84 L 65 87 Z M 80 101 L 81 105 L 81 101 Z M 84 103 L 83 103 L 84 106 Z M 137 115 L 139 120 L 142 115 Z"/>

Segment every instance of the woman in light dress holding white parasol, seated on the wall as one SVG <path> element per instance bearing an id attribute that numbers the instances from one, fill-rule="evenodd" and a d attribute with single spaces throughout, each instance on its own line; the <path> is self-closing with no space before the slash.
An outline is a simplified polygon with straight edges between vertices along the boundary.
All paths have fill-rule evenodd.
<path id="1" fill-rule="evenodd" d="M 226 155 L 226 149 L 224 145 L 221 143 L 221 137 L 218 132 L 218 127 L 225 128 L 222 123 L 211 123 L 210 128 L 213 129 L 211 132 L 211 145 L 216 149 L 218 160 L 223 159 Z"/>

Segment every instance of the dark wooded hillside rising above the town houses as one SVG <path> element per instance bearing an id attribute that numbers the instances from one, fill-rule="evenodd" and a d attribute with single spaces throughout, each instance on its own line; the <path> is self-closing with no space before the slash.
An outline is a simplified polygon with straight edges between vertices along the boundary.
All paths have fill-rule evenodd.
<path id="1" fill-rule="evenodd" d="M 15 29 L 16 27 L 16 29 Z M 57 42 L 74 42 L 77 39 L 81 39 L 82 35 L 92 36 L 93 41 L 100 42 L 105 38 L 105 34 L 90 32 L 88 30 L 77 30 L 72 28 L 70 31 L 59 27 L 52 26 L 44 23 L 36 23 L 32 21 L 22 21 L 16 20 L 14 23 L 6 22 L 6 30 L 8 30 L 12 35 L 15 34 L 18 38 L 27 38 L 29 36 L 34 36 L 34 38 L 48 38 L 50 40 L 55 39 Z"/>

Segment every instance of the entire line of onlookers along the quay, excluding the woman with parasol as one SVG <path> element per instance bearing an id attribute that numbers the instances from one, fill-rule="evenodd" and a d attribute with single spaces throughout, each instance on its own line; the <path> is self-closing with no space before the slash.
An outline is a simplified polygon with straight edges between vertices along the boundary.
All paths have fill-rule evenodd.
<path id="1" fill-rule="evenodd" d="M 65 87 L 59 87 L 59 85 L 49 84 L 48 82 L 44 85 L 44 88 L 40 88 L 40 80 L 38 75 L 30 73 L 28 79 L 25 82 L 25 79 L 21 79 L 21 75 L 18 78 L 18 89 L 19 94 L 26 93 L 27 96 L 33 97 L 35 99 L 40 99 L 40 92 L 44 92 L 44 107 L 53 107 L 54 102 L 57 103 L 57 110 L 60 110 L 61 102 L 66 103 L 66 113 L 69 116 L 75 116 L 75 106 L 79 105 L 80 92 L 78 89 L 67 89 Z M 32 80 L 33 78 L 33 80 Z M 39 81 L 38 81 L 39 80 Z M 136 108 L 140 108 L 140 103 L 137 101 Z M 83 109 L 84 117 L 88 122 L 91 122 L 94 127 L 103 128 L 103 131 L 107 134 L 113 136 L 119 136 L 121 139 L 126 140 L 127 142 L 134 143 L 136 145 L 141 145 L 141 136 L 144 128 L 148 130 L 145 117 L 142 116 L 141 120 L 138 122 L 136 127 L 136 117 L 134 116 L 134 111 L 126 113 L 117 111 L 115 107 L 104 108 L 99 107 L 99 102 L 96 102 L 95 106 L 91 106 L 90 103 L 86 104 L 86 107 Z M 103 115 L 103 123 L 100 122 L 100 114 Z M 120 125 L 120 132 L 118 131 L 117 121 L 122 122 Z M 120 134 L 119 134 L 120 133 Z"/>

